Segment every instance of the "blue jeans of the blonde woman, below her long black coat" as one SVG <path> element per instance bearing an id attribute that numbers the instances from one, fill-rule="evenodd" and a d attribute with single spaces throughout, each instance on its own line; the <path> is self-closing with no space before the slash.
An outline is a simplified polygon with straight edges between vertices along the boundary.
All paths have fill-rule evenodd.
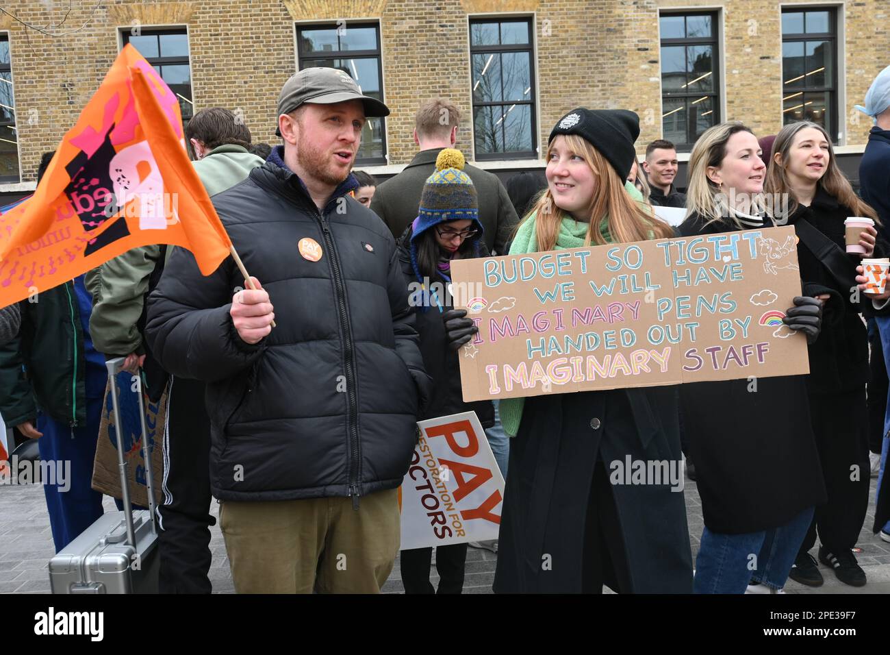
<path id="1" fill-rule="evenodd" d="M 812 520 L 810 507 L 788 524 L 762 532 L 720 535 L 705 526 L 695 558 L 695 594 L 744 594 L 752 579 L 781 589 Z"/>

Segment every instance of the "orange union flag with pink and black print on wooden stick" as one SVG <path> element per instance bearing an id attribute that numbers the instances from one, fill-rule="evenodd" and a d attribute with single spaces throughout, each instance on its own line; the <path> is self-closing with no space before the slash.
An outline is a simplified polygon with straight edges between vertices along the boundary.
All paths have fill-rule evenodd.
<path id="1" fill-rule="evenodd" d="M 168 243 L 209 275 L 231 241 L 182 140 L 176 95 L 125 45 L 27 201 L 0 216 L 0 307 Z"/>

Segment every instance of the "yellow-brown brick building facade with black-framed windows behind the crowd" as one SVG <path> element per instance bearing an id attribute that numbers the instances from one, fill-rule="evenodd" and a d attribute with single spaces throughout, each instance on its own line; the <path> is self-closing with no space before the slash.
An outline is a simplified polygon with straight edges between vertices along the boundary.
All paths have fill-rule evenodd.
<path id="1" fill-rule="evenodd" d="M 803 115 L 821 115 L 840 151 L 862 151 L 870 120 L 854 104 L 890 63 L 886 0 L 82 0 L 61 24 L 61 0 L 4 7 L 14 14 L 0 14 L 14 94 L 0 98 L 10 103 L 0 128 L 17 139 L 0 135 L 0 145 L 12 162 L 18 142 L 20 174 L 10 164 L 0 192 L 33 188 L 40 154 L 73 125 L 119 48 L 158 30 L 181 35 L 171 51 L 180 59 L 158 65 L 188 82 L 183 108 L 235 110 L 255 141 L 275 143 L 276 98 L 301 63 L 354 70 L 392 109 L 360 162 L 383 174 L 410 160 L 417 102 L 434 95 L 463 111 L 458 146 L 488 168 L 540 165 L 550 128 L 578 105 L 639 113 L 640 151 L 668 128 L 692 142 L 709 120 L 741 119 L 765 135 Z"/>

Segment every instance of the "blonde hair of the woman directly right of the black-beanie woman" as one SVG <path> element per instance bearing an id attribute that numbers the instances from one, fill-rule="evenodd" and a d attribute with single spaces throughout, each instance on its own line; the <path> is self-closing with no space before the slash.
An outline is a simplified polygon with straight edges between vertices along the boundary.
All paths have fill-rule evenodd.
<path id="1" fill-rule="evenodd" d="M 708 177 L 708 168 L 720 166 L 726 157 L 726 143 L 729 142 L 732 135 L 739 132 L 748 132 L 754 135 L 750 127 L 746 127 L 740 122 L 721 123 L 714 127 L 708 127 L 692 146 L 689 168 L 686 172 L 688 180 L 686 217 L 698 214 L 705 220 L 705 225 L 724 222 L 732 225 L 735 229 L 744 229 L 744 225 L 726 203 L 722 188 L 711 182 Z M 762 193 L 758 193 L 751 200 L 754 211 L 765 212 Z"/>

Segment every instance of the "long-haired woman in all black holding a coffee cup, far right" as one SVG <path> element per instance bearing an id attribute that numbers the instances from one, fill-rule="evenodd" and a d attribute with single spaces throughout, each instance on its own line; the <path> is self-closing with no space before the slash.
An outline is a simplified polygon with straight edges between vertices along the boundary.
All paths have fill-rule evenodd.
<path id="1" fill-rule="evenodd" d="M 822 584 L 809 553 L 818 529 L 819 561 L 841 582 L 862 586 L 865 572 L 851 549 L 869 504 L 869 348 L 862 322 L 869 306 L 856 290 L 856 265 L 875 254 L 878 216 L 837 168 L 824 128 L 809 121 L 791 123 L 776 135 L 765 192 L 774 198 L 788 194 L 804 293 L 825 301 L 806 381 L 828 503 L 816 507 L 790 577 L 804 585 Z"/>

